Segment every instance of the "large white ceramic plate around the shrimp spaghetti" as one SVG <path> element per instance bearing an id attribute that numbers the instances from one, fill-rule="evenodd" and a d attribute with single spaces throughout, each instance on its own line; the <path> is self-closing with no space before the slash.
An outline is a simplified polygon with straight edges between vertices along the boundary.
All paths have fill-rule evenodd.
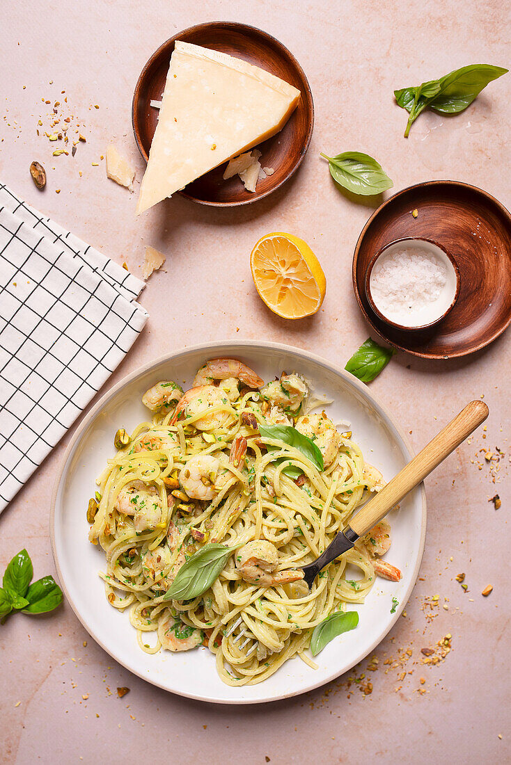
<path id="1" fill-rule="evenodd" d="M 365 459 L 384 476 L 393 477 L 413 456 L 396 418 L 375 398 L 370 389 L 349 373 L 326 360 L 277 343 L 208 343 L 171 353 L 148 364 L 110 389 L 77 428 L 57 478 L 51 506 L 51 545 L 62 588 L 75 614 L 100 646 L 126 669 L 154 685 L 174 693 L 224 704 L 274 701 L 317 688 L 346 672 L 368 655 L 398 620 L 410 597 L 421 565 L 426 533 L 424 487 L 411 492 L 392 512 L 389 560 L 401 568 L 398 583 L 378 578 L 365 604 L 357 606 L 359 627 L 329 643 L 318 656 L 319 669 L 310 669 L 300 659 L 283 665 L 259 685 L 231 688 L 224 685 L 208 649 L 184 653 L 143 653 L 128 613 L 121 614 L 106 601 L 97 572 L 104 568 L 103 551 L 87 539 L 87 501 L 95 491 L 95 479 L 113 455 L 113 436 L 120 427 L 128 431 L 147 411 L 142 393 L 159 379 L 175 379 L 190 386 L 198 366 L 215 356 L 234 356 L 252 366 L 264 379 L 284 369 L 296 370 L 311 379 L 317 392 L 325 392 L 334 403 L 328 413 L 334 422 L 346 422 L 360 444 Z M 407 423 L 408 427 L 408 423 Z M 391 599 L 399 601 L 391 614 Z"/>

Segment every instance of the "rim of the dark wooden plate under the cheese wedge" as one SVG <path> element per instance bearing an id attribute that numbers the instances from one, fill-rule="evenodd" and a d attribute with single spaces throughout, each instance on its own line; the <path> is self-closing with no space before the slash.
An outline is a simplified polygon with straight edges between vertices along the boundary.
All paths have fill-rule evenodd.
<path id="1" fill-rule="evenodd" d="M 280 50 L 283 51 L 283 53 L 290 58 L 291 62 L 293 63 L 293 67 L 296 68 L 301 79 L 303 80 L 303 83 L 305 85 L 305 93 L 302 93 L 302 97 L 303 99 L 306 99 L 306 102 L 310 110 L 310 122 L 307 128 L 305 142 L 303 143 L 303 146 L 300 148 L 300 150 L 296 153 L 296 159 L 293 163 L 293 166 L 276 185 L 270 187 L 269 189 L 264 191 L 264 193 L 259 194 L 257 197 L 252 197 L 245 200 L 239 200 L 236 202 L 214 202 L 211 200 L 198 199 L 197 197 L 192 196 L 192 194 L 187 194 L 185 190 L 186 187 L 182 190 L 175 192 L 175 194 L 180 194 L 182 197 L 185 197 L 185 199 L 188 199 L 197 204 L 204 204 L 207 207 L 241 207 L 242 205 L 252 204 L 254 202 L 258 202 L 261 199 L 264 199 L 264 197 L 267 197 L 269 194 L 273 194 L 274 191 L 276 191 L 283 184 L 289 181 L 290 177 L 293 177 L 293 175 L 296 173 L 298 168 L 300 168 L 300 164 L 302 164 L 303 162 L 303 158 L 305 157 L 309 149 L 310 142 L 313 137 L 314 101 L 313 101 L 313 93 L 312 93 L 312 90 L 310 89 L 309 80 L 307 79 L 306 73 L 304 72 L 303 68 L 300 66 L 300 63 L 298 62 L 296 57 L 291 53 L 289 48 L 287 48 L 283 43 L 280 42 L 280 40 L 277 39 L 277 37 L 274 37 L 272 34 L 269 34 L 267 31 L 264 31 L 264 29 L 260 29 L 259 27 L 254 27 L 251 24 L 241 24 L 240 22 L 237 22 L 237 21 L 205 21 L 202 24 L 194 24 L 192 27 L 187 27 L 185 29 L 182 29 L 178 34 L 175 34 L 173 37 L 169 37 L 168 40 L 165 40 L 165 42 L 162 43 L 154 51 L 154 53 L 149 57 L 144 67 L 142 68 L 142 71 L 139 74 L 139 78 L 136 81 L 135 90 L 133 91 L 133 100 L 131 105 L 131 124 L 133 128 L 133 135 L 135 136 L 136 145 L 139 148 L 139 152 L 142 155 L 142 159 L 147 163 L 149 161 L 149 156 L 146 155 L 146 150 L 142 145 L 142 139 L 140 138 L 139 127 L 138 127 L 139 125 L 139 119 L 138 119 L 139 92 L 142 88 L 142 83 L 146 77 L 147 70 L 149 70 L 149 67 L 152 66 L 152 63 L 154 63 L 156 58 L 159 57 L 159 55 L 162 54 L 164 50 L 166 50 L 169 47 L 172 47 L 175 44 L 175 41 L 179 40 L 179 38 L 183 34 L 189 34 L 191 32 L 199 31 L 201 29 L 205 29 L 212 26 L 218 26 L 218 25 L 221 25 L 226 28 L 236 29 L 237 31 L 241 31 L 241 32 L 245 30 L 257 32 L 257 34 L 260 34 L 263 37 L 266 37 L 267 41 L 271 41 L 273 44 L 277 45 L 277 47 L 279 47 Z M 172 55 L 172 52 L 171 52 L 171 55 Z M 293 117 L 293 114 L 290 115 L 290 119 L 292 117 Z"/>

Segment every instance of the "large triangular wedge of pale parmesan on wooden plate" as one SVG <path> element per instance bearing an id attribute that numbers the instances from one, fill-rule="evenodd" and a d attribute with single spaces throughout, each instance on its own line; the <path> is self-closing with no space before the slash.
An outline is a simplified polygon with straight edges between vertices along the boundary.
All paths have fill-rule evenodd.
<path id="1" fill-rule="evenodd" d="M 176 41 L 136 212 L 270 138 L 299 100 L 280 77 Z"/>

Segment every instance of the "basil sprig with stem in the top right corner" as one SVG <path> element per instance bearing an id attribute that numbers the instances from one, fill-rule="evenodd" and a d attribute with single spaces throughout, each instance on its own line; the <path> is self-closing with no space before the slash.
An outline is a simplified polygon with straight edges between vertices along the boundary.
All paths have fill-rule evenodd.
<path id="1" fill-rule="evenodd" d="M 408 138 L 412 123 L 428 106 L 441 114 L 463 112 L 488 83 L 502 77 L 507 71 L 503 67 L 493 67 L 490 63 L 472 63 L 468 67 L 455 69 L 439 80 L 395 90 L 398 105 L 410 114 L 405 138 Z"/>

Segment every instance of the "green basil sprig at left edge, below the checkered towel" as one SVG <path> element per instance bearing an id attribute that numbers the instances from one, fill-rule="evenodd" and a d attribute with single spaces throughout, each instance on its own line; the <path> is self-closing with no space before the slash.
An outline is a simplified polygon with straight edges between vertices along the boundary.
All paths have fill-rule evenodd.
<path id="1" fill-rule="evenodd" d="M 30 584 L 34 568 L 28 552 L 23 549 L 9 562 L 0 588 L 0 618 L 11 610 L 24 614 L 44 614 L 62 602 L 62 591 L 52 576 Z"/>

